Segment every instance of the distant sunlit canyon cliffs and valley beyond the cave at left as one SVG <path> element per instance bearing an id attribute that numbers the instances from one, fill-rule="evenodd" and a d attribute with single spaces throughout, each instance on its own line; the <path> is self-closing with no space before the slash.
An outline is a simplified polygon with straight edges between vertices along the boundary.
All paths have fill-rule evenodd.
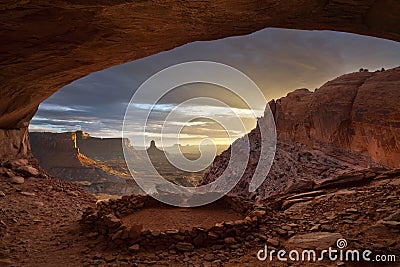
<path id="1" fill-rule="evenodd" d="M 135 150 L 127 138 L 97 138 L 84 131 L 67 133 L 30 133 L 32 154 L 51 175 L 85 186 L 93 193 L 113 195 L 138 194 L 141 191 L 125 162 L 129 159 L 142 162 L 148 154 L 154 167 L 167 180 L 193 186 L 202 172 L 185 172 L 177 169 L 166 158 L 164 151 L 151 142 L 148 150 Z M 146 168 L 136 166 L 135 177 L 146 177 Z"/>

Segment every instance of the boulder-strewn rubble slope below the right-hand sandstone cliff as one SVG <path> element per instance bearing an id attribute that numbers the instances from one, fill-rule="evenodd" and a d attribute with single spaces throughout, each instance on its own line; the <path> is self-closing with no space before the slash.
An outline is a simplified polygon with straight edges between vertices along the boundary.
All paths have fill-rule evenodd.
<path id="1" fill-rule="evenodd" d="M 369 167 L 388 168 L 360 153 L 352 153 L 327 144 L 319 143 L 311 148 L 301 143 L 278 139 L 271 169 L 264 170 L 268 173 L 266 179 L 256 193 L 250 193 L 249 184 L 258 168 L 261 152 L 259 128 L 252 130 L 248 137 L 251 144 L 248 164 L 240 181 L 231 191 L 232 194 L 245 198 L 266 199 L 290 192 L 313 190 L 316 183 L 332 180 L 348 172 Z M 235 143 L 239 148 L 247 146 L 244 139 L 238 139 Z M 237 156 L 243 162 L 247 160 L 246 153 L 240 153 Z M 212 165 L 206 169 L 200 184 L 209 184 L 220 177 L 225 172 L 229 160 L 230 148 L 215 158 Z M 233 176 L 241 173 L 240 171 L 240 166 L 232 166 L 229 174 Z"/>

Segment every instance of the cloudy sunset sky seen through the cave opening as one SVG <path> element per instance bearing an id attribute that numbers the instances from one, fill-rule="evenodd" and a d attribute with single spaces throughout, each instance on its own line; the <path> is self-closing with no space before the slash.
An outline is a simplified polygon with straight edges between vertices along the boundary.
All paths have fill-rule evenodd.
<path id="1" fill-rule="evenodd" d="M 145 143 L 150 139 L 158 142 L 161 136 L 164 146 L 176 142 L 197 144 L 204 138 L 224 144 L 250 131 L 255 126 L 255 117 L 262 115 L 264 105 L 249 110 L 240 97 L 226 88 L 210 84 L 177 87 L 154 107 L 151 105 L 153 110 L 145 134 L 140 125 L 142 122 L 132 120 L 149 109 L 149 103 L 144 99 L 143 103 L 129 104 L 146 79 L 174 64 L 195 60 L 219 62 L 238 69 L 256 83 L 269 101 L 298 88 L 315 90 L 337 76 L 360 68 L 375 71 L 382 67 L 397 67 L 400 65 L 400 44 L 341 32 L 271 28 L 246 36 L 193 42 L 92 73 L 63 87 L 41 103 L 31 121 L 30 131 L 82 129 L 92 136 L 121 137 L 128 106 L 133 110 L 128 137 L 137 146 L 141 146 L 143 140 Z M 183 103 L 196 97 L 210 97 L 225 104 Z M 175 121 L 169 125 L 179 126 L 179 139 L 174 136 L 176 127 L 162 127 L 168 114 L 177 107 Z M 197 118 L 183 123 L 188 114 Z M 221 126 L 230 124 L 232 114 L 242 121 L 241 129 L 233 127 L 230 131 Z M 229 139 L 228 134 L 233 139 Z"/>

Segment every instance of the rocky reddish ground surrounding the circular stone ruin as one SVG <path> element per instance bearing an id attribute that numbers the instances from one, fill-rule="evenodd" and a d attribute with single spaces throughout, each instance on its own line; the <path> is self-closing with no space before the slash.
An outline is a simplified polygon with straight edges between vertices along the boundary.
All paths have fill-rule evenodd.
<path id="1" fill-rule="evenodd" d="M 265 244 L 269 249 L 335 246 L 339 237 L 350 249 L 400 259 L 398 171 L 362 186 L 267 199 L 270 210 L 258 231 L 243 240 L 186 252 L 173 246 L 164 251 L 114 249 L 78 225 L 82 212 L 95 205 L 89 193 L 47 177 L 24 160 L 3 163 L 0 173 L 0 266 L 304 266 L 276 258 L 259 261 L 256 253 Z M 339 261 L 313 265 L 352 266 Z"/>

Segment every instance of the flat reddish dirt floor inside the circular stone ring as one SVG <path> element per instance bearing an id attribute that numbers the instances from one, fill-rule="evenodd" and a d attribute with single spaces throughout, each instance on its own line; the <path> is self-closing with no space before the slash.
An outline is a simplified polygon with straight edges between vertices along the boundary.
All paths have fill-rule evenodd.
<path id="1" fill-rule="evenodd" d="M 143 225 L 144 230 L 190 230 L 193 227 L 210 228 L 216 223 L 243 219 L 243 215 L 221 205 L 198 208 L 160 207 L 143 208 L 122 219 L 130 226 Z"/>

